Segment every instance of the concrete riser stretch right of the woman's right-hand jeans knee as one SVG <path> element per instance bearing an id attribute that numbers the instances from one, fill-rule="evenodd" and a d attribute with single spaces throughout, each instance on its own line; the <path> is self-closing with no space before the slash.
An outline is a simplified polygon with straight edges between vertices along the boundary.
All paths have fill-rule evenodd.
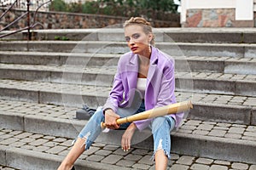
<path id="1" fill-rule="evenodd" d="M 256 142 L 241 139 L 224 139 L 199 136 L 196 134 L 176 133 L 172 149 L 180 154 L 192 156 L 214 156 L 222 160 L 256 163 Z"/>

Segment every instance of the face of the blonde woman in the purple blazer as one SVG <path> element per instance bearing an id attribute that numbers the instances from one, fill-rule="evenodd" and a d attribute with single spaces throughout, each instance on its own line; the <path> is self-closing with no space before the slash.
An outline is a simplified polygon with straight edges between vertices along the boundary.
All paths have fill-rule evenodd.
<path id="1" fill-rule="evenodd" d="M 125 26 L 125 41 L 134 54 L 145 54 L 148 50 L 148 44 L 152 39 L 152 34 L 146 34 L 143 26 L 131 25 Z"/>

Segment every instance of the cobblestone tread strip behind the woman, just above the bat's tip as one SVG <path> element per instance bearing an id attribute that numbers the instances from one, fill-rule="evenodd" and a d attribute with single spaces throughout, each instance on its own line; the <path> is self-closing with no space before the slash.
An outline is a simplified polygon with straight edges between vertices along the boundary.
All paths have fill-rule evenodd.
<path id="1" fill-rule="evenodd" d="M 15 80 L 0 80 L 0 88 L 17 88 L 20 90 L 33 90 L 52 92 L 56 94 L 86 94 L 107 98 L 111 87 L 97 87 L 89 85 L 61 84 L 50 82 L 29 82 Z M 192 99 L 193 102 L 221 104 L 221 105 L 244 105 L 256 106 L 256 97 L 237 96 L 231 94 L 203 94 L 176 92 L 177 101 Z"/>

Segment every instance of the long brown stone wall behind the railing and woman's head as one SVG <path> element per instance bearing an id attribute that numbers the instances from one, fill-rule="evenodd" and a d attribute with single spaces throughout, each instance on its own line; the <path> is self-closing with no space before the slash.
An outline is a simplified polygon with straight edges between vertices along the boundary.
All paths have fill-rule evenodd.
<path id="1" fill-rule="evenodd" d="M 24 14 L 25 10 L 11 10 L 0 20 L 0 30 L 10 22 Z M 0 8 L 0 15 L 3 14 L 3 8 Z M 34 12 L 31 13 L 31 19 L 34 19 Z M 31 20 L 31 22 L 32 22 Z M 61 12 L 38 12 L 37 22 L 43 24 L 44 29 L 73 29 L 73 28 L 102 28 L 114 24 L 122 24 L 127 18 L 96 14 L 72 14 Z M 17 30 L 26 26 L 26 16 L 23 17 L 14 26 L 8 30 Z M 180 27 L 179 14 L 173 14 L 173 20 L 152 22 L 154 27 Z M 37 27 L 41 28 L 41 27 Z"/>

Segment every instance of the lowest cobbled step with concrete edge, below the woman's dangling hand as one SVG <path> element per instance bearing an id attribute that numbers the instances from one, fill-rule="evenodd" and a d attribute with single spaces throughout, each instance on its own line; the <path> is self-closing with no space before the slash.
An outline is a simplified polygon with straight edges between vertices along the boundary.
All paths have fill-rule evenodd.
<path id="1" fill-rule="evenodd" d="M 8 128 L 0 130 L 0 167 L 7 169 L 56 169 L 71 147 L 72 139 L 42 133 L 28 133 Z M 75 162 L 76 169 L 154 169 L 152 150 L 136 147 L 120 150 L 119 145 L 95 143 Z M 7 168 L 8 166 L 8 168 Z M 3 168 L 2 168 L 3 167 Z M 5 168 L 4 168 L 5 167 Z M 12 167 L 12 168 L 9 168 Z M 245 169 L 256 165 L 243 161 L 226 161 L 204 156 L 172 153 L 168 169 Z"/>

